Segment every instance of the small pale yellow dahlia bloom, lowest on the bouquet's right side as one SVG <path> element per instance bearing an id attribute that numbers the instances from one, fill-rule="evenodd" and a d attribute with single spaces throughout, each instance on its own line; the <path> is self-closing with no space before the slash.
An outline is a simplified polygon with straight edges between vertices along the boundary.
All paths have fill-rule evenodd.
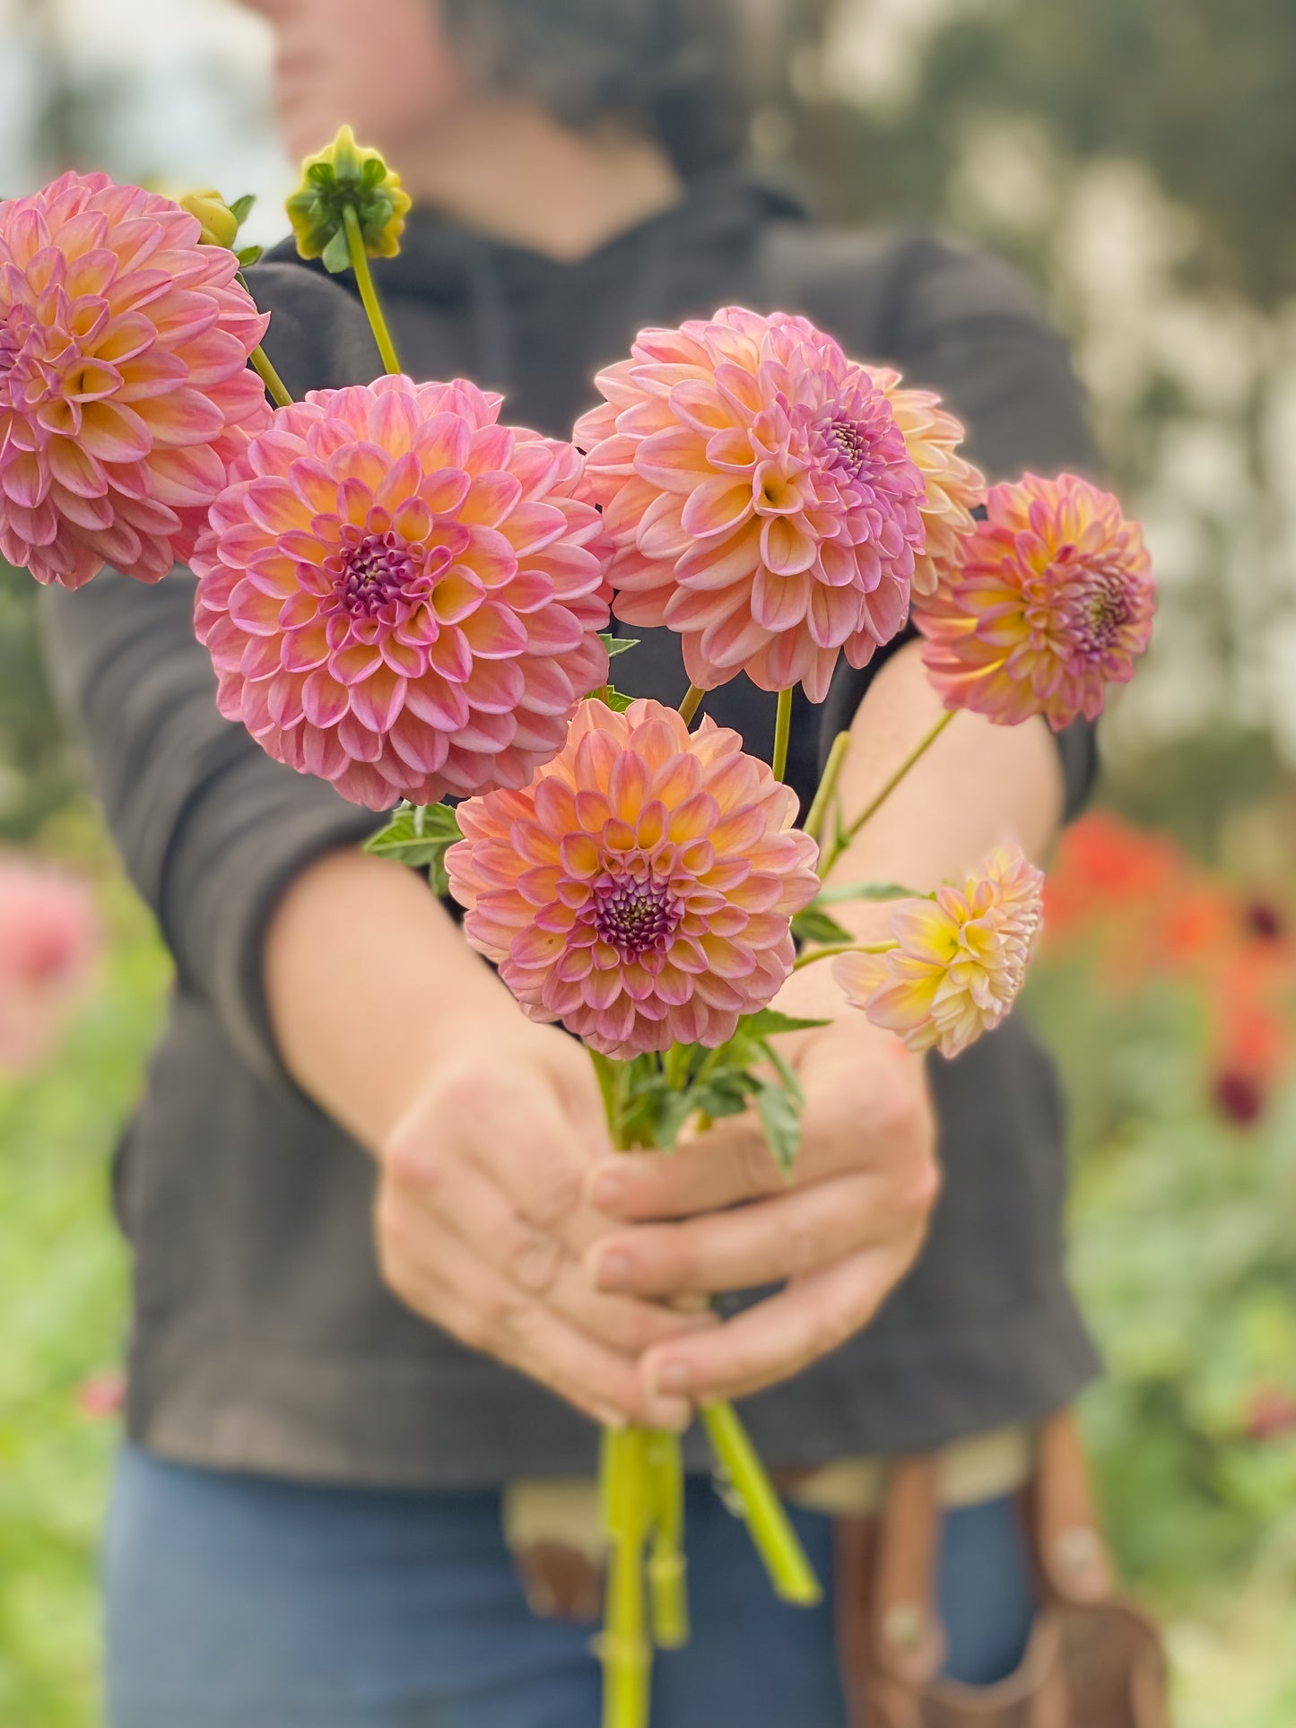
<path id="1" fill-rule="evenodd" d="M 892 918 L 895 947 L 833 962 L 852 1007 L 911 1051 L 957 1056 L 1011 1009 L 1044 919 L 1044 871 L 999 847 L 961 886 Z"/>

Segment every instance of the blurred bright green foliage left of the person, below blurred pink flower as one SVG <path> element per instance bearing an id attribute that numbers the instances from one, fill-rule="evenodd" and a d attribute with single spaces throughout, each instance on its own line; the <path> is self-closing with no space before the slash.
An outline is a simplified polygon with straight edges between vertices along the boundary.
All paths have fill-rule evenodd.
<path id="1" fill-rule="evenodd" d="M 0 1721 L 90 1728 L 95 1572 L 116 1424 L 83 1414 L 85 1381 L 121 1360 L 126 1255 L 107 1161 L 140 1085 L 168 962 L 111 878 L 104 983 L 62 1051 L 0 1078 Z"/>

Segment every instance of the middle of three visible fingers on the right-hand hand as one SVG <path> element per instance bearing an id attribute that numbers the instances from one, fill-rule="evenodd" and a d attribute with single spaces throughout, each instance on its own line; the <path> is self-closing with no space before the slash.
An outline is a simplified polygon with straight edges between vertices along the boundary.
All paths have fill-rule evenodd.
<path id="1" fill-rule="evenodd" d="M 598 1289 L 638 1296 L 781 1284 L 909 1229 L 888 1189 L 885 1177 L 854 1172 L 733 1211 L 643 1223 L 600 1237 L 586 1265 Z"/>

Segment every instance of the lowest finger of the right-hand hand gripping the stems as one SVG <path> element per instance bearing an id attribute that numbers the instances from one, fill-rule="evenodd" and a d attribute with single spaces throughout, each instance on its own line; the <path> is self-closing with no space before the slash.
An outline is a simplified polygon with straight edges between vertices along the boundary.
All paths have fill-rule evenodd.
<path id="1" fill-rule="evenodd" d="M 886 1248 L 852 1255 L 714 1332 L 658 1344 L 641 1362 L 645 1396 L 707 1403 L 788 1379 L 866 1325 L 916 1251 L 918 1242 L 909 1253 Z"/>

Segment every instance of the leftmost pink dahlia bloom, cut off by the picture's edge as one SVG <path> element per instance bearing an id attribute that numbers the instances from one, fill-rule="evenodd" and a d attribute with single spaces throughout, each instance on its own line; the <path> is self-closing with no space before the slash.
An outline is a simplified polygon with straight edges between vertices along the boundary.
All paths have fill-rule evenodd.
<path id="1" fill-rule="evenodd" d="M 266 330 L 238 261 L 180 206 L 107 175 L 0 204 L 0 551 L 79 588 L 156 582 L 268 418 Z"/>

